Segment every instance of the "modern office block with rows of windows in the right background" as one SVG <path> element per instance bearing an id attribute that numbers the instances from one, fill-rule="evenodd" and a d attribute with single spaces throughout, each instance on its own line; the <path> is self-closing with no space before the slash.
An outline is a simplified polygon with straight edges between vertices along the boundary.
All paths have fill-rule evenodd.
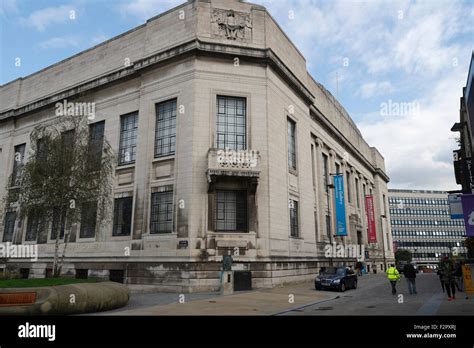
<path id="1" fill-rule="evenodd" d="M 448 193 L 432 190 L 389 190 L 394 249 L 412 252 L 419 266 L 436 268 L 444 255 L 466 253 L 464 221 L 451 219 Z"/>

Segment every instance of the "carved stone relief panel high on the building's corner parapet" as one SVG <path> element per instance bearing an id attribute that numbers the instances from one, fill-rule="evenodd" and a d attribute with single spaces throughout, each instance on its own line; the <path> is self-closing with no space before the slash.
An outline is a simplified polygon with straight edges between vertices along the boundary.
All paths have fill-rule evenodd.
<path id="1" fill-rule="evenodd" d="M 213 9 L 212 34 L 229 40 L 251 40 L 252 19 L 249 13 L 234 10 Z"/>

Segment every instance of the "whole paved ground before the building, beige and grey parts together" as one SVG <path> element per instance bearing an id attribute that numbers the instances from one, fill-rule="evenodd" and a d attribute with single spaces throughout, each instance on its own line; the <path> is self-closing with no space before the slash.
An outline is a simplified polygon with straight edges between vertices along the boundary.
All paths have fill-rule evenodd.
<path id="1" fill-rule="evenodd" d="M 132 293 L 126 307 L 93 315 L 474 315 L 474 296 L 447 301 L 435 274 L 419 274 L 416 283 L 417 295 L 408 294 L 403 276 L 392 295 L 383 274 L 359 277 L 358 288 L 344 293 L 317 291 L 313 282 L 226 296 Z"/>

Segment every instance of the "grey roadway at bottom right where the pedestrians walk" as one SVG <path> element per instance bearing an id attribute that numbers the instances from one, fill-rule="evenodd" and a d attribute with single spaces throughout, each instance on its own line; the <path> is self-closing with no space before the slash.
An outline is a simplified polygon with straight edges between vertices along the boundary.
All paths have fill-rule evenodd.
<path id="1" fill-rule="evenodd" d="M 392 295 L 383 275 L 359 277 L 358 288 L 340 293 L 338 298 L 283 312 L 280 315 L 474 315 L 474 299 L 456 293 L 448 301 L 436 274 L 420 274 L 417 295 L 410 295 L 402 276 L 397 295 Z"/>

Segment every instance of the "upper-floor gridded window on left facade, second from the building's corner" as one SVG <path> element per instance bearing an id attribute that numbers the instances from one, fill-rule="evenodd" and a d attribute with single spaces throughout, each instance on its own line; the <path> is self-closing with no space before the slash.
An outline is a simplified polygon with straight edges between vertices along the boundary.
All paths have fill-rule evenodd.
<path id="1" fill-rule="evenodd" d="M 135 163 L 137 155 L 138 113 L 122 115 L 120 118 L 119 164 Z"/>

